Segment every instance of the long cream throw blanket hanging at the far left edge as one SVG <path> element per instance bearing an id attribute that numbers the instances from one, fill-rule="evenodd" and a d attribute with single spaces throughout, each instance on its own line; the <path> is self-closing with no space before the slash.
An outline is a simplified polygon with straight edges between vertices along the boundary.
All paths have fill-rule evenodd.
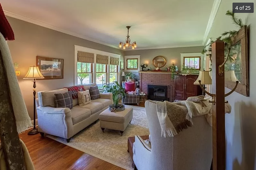
<path id="1" fill-rule="evenodd" d="M 12 108 L 16 120 L 18 133 L 23 132 L 32 126 L 31 119 L 28 116 L 28 111 L 23 100 L 20 86 L 15 74 L 12 57 L 4 36 L 0 33 L 0 52 L 4 62 L 4 68 L 7 72 L 7 78 L 10 88 L 10 96 L 12 98 Z"/>

